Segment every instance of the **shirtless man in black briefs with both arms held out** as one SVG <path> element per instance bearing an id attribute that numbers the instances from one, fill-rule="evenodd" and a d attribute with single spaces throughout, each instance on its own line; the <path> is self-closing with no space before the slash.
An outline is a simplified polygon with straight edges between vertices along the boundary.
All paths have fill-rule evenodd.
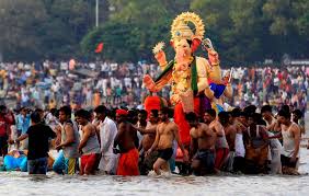
<path id="1" fill-rule="evenodd" d="M 156 139 L 152 147 L 146 152 L 146 155 L 149 155 L 154 149 L 159 151 L 159 158 L 153 164 L 154 172 L 160 175 L 160 169 L 164 171 L 170 171 L 168 161 L 173 155 L 173 141 L 178 141 L 182 152 L 184 162 L 188 161 L 187 154 L 184 151 L 183 145 L 180 141 L 179 128 L 175 123 L 170 122 L 169 119 L 169 108 L 163 107 L 159 112 L 160 123 L 157 127 Z"/>

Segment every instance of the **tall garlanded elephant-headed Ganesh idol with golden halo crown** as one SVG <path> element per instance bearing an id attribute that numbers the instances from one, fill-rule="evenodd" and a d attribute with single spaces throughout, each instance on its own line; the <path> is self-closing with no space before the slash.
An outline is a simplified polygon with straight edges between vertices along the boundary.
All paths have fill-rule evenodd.
<path id="1" fill-rule="evenodd" d="M 188 23 L 194 25 L 193 32 Z M 174 59 L 169 61 L 162 50 L 163 43 L 157 44 L 153 54 L 162 73 L 153 80 L 144 77 L 146 88 L 151 92 L 160 91 L 164 85 L 171 85 L 171 103 L 174 105 L 174 122 L 180 129 L 181 141 L 190 145 L 190 125 L 185 113 L 195 112 L 202 116 L 211 107 L 213 101 L 225 93 L 226 83 L 221 79 L 218 54 L 208 47 L 208 59 L 197 57 L 194 51 L 199 47 L 205 33 L 203 21 L 191 12 L 180 14 L 172 23 L 171 46 L 174 48 Z M 219 95 L 219 96 L 218 96 Z M 209 96 L 209 99 L 207 97 Z"/>

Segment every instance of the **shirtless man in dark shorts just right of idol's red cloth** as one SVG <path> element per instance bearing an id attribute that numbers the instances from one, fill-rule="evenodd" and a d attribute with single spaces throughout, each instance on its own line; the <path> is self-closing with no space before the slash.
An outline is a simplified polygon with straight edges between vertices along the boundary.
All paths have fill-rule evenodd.
<path id="1" fill-rule="evenodd" d="M 186 114 L 185 119 L 191 126 L 190 160 L 192 160 L 191 168 L 194 174 L 205 175 L 214 173 L 217 134 L 206 124 L 198 123 L 195 113 Z"/>

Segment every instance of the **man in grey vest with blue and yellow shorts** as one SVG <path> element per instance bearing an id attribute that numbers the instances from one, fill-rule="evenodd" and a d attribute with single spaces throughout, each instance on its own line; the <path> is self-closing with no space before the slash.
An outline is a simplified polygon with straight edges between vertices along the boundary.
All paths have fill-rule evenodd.
<path id="1" fill-rule="evenodd" d="M 61 142 L 56 150 L 62 149 L 54 162 L 53 170 L 56 173 L 73 175 L 77 170 L 77 159 L 79 158 L 79 130 L 71 120 L 71 107 L 62 106 L 59 108 Z"/>

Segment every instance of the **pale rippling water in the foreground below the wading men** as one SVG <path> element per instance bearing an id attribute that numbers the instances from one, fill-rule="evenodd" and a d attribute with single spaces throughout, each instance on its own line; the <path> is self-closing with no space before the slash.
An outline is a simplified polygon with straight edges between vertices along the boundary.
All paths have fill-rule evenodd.
<path id="1" fill-rule="evenodd" d="M 0 195 L 308 195 L 309 151 L 301 149 L 300 176 L 30 176 L 0 173 Z"/>

